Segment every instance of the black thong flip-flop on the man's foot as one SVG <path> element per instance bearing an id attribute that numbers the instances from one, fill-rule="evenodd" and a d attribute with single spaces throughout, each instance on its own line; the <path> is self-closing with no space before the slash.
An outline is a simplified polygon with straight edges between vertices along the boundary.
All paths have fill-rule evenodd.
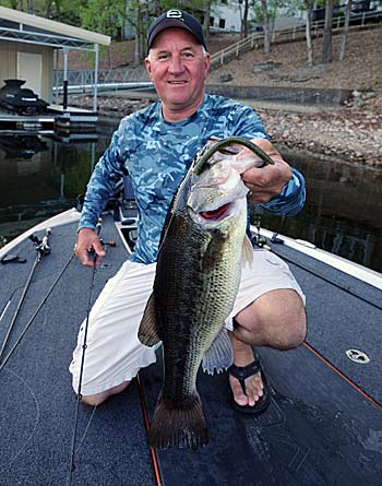
<path id="1" fill-rule="evenodd" d="M 242 391 L 244 393 L 246 393 L 246 378 L 251 377 L 251 376 L 258 374 L 259 371 L 261 374 L 261 379 L 263 381 L 263 395 L 258 400 L 258 402 L 253 406 L 239 405 L 238 403 L 235 402 L 232 390 L 230 391 L 230 394 L 231 394 L 230 401 L 231 401 L 232 407 L 243 414 L 258 415 L 258 414 L 261 414 L 262 412 L 265 412 L 265 410 L 271 404 L 271 387 L 267 383 L 267 380 L 266 380 L 265 374 L 263 371 L 263 368 L 261 366 L 260 359 L 255 354 L 254 354 L 254 360 L 252 363 L 250 363 L 249 365 L 247 365 L 247 366 L 231 365 L 228 368 L 228 374 L 232 375 L 232 377 L 235 377 L 239 380 Z"/>

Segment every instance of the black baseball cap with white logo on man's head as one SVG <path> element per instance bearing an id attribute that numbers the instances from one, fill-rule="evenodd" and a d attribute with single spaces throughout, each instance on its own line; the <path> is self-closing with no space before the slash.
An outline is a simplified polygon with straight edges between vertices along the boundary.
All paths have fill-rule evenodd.
<path id="1" fill-rule="evenodd" d="M 157 17 L 155 22 L 148 27 L 147 32 L 147 52 L 153 46 L 155 37 L 159 34 L 159 32 L 164 31 L 168 27 L 180 27 L 189 31 L 196 40 L 207 50 L 207 46 L 205 44 L 203 28 L 201 24 L 196 21 L 195 17 L 190 15 L 187 12 L 183 12 L 178 9 L 171 9 L 167 12 L 163 13 Z"/>

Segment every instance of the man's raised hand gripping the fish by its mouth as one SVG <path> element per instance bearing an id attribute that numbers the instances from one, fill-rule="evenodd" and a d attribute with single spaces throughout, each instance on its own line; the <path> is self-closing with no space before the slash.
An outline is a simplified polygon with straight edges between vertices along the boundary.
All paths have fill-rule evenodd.
<path id="1" fill-rule="evenodd" d="M 250 190 L 248 201 L 254 204 L 267 202 L 274 195 L 278 195 L 284 186 L 289 181 L 291 169 L 268 140 L 254 139 L 252 142 L 266 152 L 275 162 L 274 165 L 248 169 L 241 176 Z"/>

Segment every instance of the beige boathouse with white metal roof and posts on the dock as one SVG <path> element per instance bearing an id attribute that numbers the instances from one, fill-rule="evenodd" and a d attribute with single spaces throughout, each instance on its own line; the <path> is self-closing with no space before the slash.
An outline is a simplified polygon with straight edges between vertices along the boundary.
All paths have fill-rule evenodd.
<path id="1" fill-rule="evenodd" d="M 33 90 L 50 104 L 49 109 L 70 118 L 75 110 L 68 106 L 68 55 L 70 50 L 94 56 L 94 102 L 97 110 L 97 74 L 99 46 L 108 46 L 110 37 L 37 15 L 0 7 L 0 87 L 4 80 L 24 80 L 23 87 Z M 59 56 L 63 56 L 63 83 L 57 85 Z M 63 93 L 61 106 L 55 105 L 58 90 Z"/>

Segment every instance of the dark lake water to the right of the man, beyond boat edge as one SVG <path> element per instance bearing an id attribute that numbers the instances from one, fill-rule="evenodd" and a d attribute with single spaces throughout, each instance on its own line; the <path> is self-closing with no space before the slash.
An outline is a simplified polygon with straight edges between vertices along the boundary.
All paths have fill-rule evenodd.
<path id="1" fill-rule="evenodd" d="M 382 171 L 280 149 L 307 181 L 307 204 L 287 217 L 282 233 L 382 272 Z M 280 218 L 262 224 L 278 230 Z"/>

